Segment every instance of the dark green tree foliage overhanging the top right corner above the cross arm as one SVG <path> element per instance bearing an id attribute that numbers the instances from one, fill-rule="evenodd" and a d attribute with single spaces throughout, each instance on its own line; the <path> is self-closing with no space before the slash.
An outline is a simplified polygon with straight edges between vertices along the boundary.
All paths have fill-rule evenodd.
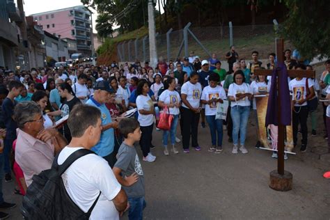
<path id="1" fill-rule="evenodd" d="M 281 34 L 304 58 L 330 57 L 328 0 L 286 0 L 288 17 Z"/>

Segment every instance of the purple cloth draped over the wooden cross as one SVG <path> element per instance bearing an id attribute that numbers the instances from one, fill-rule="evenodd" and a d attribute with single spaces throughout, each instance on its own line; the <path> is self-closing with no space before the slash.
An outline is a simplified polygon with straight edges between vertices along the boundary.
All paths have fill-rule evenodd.
<path id="1" fill-rule="evenodd" d="M 276 71 L 277 70 L 277 71 Z M 278 86 L 277 86 L 277 72 L 278 74 Z M 278 109 L 278 89 L 281 88 L 280 96 L 281 109 Z M 278 111 L 281 111 L 281 118 L 278 118 Z M 267 104 L 266 114 L 266 127 L 268 125 L 291 125 L 291 100 L 290 91 L 288 85 L 288 71 L 284 63 L 277 63 L 277 67 L 274 68 L 272 73 L 272 84 L 270 86 L 269 98 Z"/>

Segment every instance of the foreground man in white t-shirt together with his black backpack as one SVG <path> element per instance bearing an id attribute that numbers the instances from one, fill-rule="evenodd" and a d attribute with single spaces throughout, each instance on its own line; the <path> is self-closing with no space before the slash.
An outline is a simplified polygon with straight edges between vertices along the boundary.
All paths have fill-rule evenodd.
<path id="1" fill-rule="evenodd" d="M 70 112 L 72 140 L 52 168 L 33 178 L 22 204 L 24 219 L 119 219 L 127 196 L 108 162 L 91 148 L 100 140 L 101 111 L 79 105 Z"/>

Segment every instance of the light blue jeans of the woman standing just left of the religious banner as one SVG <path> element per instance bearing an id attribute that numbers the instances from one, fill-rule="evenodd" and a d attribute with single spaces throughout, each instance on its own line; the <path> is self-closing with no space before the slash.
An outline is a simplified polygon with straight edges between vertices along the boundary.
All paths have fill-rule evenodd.
<path id="1" fill-rule="evenodd" d="M 230 115 L 233 120 L 233 143 L 238 144 L 238 133 L 240 135 L 241 145 L 244 146 L 246 138 L 246 125 L 249 120 L 250 106 L 242 107 L 236 105 L 231 107 Z"/>

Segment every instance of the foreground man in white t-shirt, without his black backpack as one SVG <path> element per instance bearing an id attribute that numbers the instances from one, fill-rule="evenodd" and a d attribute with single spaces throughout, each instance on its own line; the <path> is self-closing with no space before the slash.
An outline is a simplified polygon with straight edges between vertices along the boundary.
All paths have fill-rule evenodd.
<path id="1" fill-rule="evenodd" d="M 59 165 L 79 149 L 91 150 L 100 140 L 101 112 L 96 107 L 81 105 L 70 112 L 68 126 L 72 140 L 61 150 L 57 160 Z M 62 178 L 68 195 L 85 213 L 101 192 L 90 219 L 119 219 L 119 212 L 127 209 L 125 191 L 121 189 L 108 162 L 100 156 L 92 153 L 80 157 L 63 173 Z"/>

